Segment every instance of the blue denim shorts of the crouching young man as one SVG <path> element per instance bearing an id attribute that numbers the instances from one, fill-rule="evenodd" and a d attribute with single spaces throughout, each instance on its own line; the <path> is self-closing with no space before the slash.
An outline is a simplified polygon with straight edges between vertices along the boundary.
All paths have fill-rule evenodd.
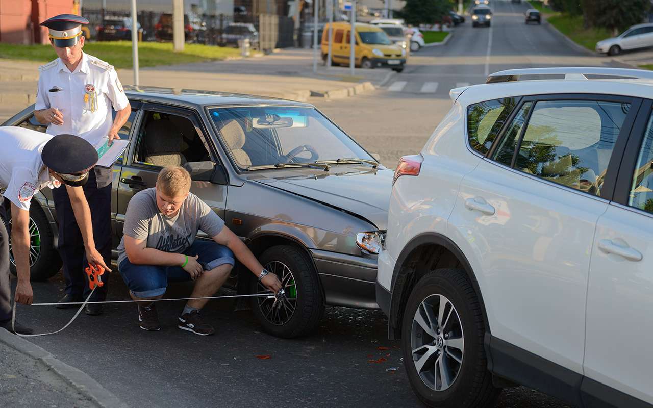
<path id="1" fill-rule="evenodd" d="M 182 252 L 183 255 L 195 257 L 204 270 L 212 270 L 223 264 L 234 264 L 231 249 L 213 241 L 195 240 L 193 245 Z M 191 280 L 181 266 L 136 265 L 125 259 L 118 265 L 118 271 L 129 291 L 137 298 L 161 296 L 168 287 L 168 282 Z"/>

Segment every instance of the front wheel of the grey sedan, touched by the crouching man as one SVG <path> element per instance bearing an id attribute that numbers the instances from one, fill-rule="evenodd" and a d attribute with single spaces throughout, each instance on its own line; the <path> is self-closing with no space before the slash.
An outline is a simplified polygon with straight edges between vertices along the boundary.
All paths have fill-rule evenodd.
<path id="1" fill-rule="evenodd" d="M 274 309 L 278 302 L 273 298 L 252 298 L 252 311 L 263 329 L 277 337 L 299 337 L 313 332 L 325 312 L 324 296 L 313 262 L 293 245 L 277 245 L 264 251 L 259 258 L 271 274 L 281 280 L 286 292 L 285 306 Z M 263 293 L 266 289 L 251 279 L 251 293 Z M 294 307 L 291 313 L 288 313 Z M 277 313 L 277 315 L 275 315 Z M 277 317 L 279 319 L 277 319 Z"/>

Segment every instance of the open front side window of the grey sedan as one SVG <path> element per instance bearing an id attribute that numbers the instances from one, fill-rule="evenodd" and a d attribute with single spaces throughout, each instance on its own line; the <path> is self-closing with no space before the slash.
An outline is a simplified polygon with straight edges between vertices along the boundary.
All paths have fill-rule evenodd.
<path id="1" fill-rule="evenodd" d="M 143 116 L 135 154 L 136 163 L 161 167 L 211 160 L 193 121 L 153 111 Z"/>

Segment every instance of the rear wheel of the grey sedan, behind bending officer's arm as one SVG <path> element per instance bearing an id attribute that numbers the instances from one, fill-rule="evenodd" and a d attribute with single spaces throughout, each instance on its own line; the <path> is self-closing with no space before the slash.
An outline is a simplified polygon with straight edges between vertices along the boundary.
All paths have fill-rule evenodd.
<path id="1" fill-rule="evenodd" d="M 11 212 L 7 208 L 7 232 L 9 234 L 9 248 L 11 248 Z M 50 279 L 61 269 L 61 258 L 54 247 L 54 235 L 48 217 L 42 208 L 32 202 L 29 206 L 29 277 L 32 281 L 44 281 Z M 34 255 L 35 254 L 35 255 Z M 16 264 L 14 255 L 9 252 L 9 264 L 12 275 L 16 276 Z"/>

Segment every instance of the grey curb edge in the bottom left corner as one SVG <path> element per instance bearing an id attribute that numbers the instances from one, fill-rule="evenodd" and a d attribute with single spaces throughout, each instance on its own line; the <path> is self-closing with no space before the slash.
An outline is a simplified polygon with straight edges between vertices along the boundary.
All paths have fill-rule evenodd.
<path id="1" fill-rule="evenodd" d="M 129 408 L 129 405 L 119 400 L 114 394 L 106 390 L 100 383 L 92 379 L 80 369 L 65 364 L 54 358 L 48 351 L 30 343 L 22 337 L 0 329 L 0 343 L 11 347 L 19 353 L 25 354 L 36 360 L 44 368 L 52 370 L 65 382 L 71 384 L 82 394 L 88 396 L 97 405 L 103 408 Z"/>

